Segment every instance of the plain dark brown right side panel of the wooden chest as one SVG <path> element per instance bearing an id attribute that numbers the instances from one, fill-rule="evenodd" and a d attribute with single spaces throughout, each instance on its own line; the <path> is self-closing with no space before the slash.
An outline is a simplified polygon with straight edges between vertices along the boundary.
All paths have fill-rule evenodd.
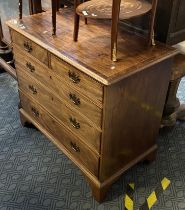
<path id="1" fill-rule="evenodd" d="M 156 149 L 172 59 L 105 90 L 100 180 L 123 173 L 141 154 Z"/>

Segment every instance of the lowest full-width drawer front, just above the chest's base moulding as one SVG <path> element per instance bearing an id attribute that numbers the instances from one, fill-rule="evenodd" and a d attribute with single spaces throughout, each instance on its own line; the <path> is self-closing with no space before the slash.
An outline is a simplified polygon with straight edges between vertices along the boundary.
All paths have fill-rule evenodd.
<path id="1" fill-rule="evenodd" d="M 84 143 L 81 143 L 77 137 L 67 131 L 50 114 L 44 111 L 37 103 L 26 97 L 22 92 L 20 92 L 20 98 L 21 105 L 26 113 L 58 139 L 76 160 L 98 177 L 99 156 L 85 146 Z"/>

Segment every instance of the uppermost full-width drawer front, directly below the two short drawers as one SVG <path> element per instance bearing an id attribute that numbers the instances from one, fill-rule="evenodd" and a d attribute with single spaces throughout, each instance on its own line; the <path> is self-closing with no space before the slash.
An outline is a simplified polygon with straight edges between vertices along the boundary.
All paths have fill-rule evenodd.
<path id="1" fill-rule="evenodd" d="M 102 109 L 96 106 L 88 98 L 84 97 L 72 87 L 66 85 L 58 77 L 56 77 L 51 69 L 40 65 L 33 58 L 23 54 L 14 53 L 17 73 L 28 73 L 36 78 L 42 84 L 46 84 L 49 89 L 56 93 L 62 101 L 70 104 L 77 111 L 85 115 L 97 127 L 101 128 Z"/>

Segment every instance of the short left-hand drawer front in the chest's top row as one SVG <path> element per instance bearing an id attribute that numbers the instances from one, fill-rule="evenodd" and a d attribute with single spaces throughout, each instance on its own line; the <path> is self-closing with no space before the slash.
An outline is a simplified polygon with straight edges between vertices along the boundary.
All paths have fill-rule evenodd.
<path id="1" fill-rule="evenodd" d="M 28 52 L 29 54 L 37 58 L 39 61 L 48 66 L 47 50 L 43 49 L 36 43 L 32 42 L 31 40 L 14 30 L 11 30 L 11 36 L 13 44 L 17 44 L 21 47 L 21 49 Z"/>

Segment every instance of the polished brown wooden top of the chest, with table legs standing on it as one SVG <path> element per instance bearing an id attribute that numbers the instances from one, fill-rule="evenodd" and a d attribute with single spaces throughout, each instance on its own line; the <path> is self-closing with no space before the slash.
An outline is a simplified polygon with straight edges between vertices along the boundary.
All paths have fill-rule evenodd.
<path id="1" fill-rule="evenodd" d="M 97 81 L 109 85 L 146 66 L 174 56 L 177 51 L 157 43 L 146 48 L 144 39 L 133 34 L 126 34 L 119 27 L 117 62 L 110 59 L 111 21 L 90 20 L 85 25 L 81 20 L 79 40 L 73 41 L 73 12 L 65 8 L 57 14 L 57 33 L 51 33 L 51 13 L 13 19 L 7 22 L 9 27 L 29 37 L 35 43 L 75 66 Z"/>

